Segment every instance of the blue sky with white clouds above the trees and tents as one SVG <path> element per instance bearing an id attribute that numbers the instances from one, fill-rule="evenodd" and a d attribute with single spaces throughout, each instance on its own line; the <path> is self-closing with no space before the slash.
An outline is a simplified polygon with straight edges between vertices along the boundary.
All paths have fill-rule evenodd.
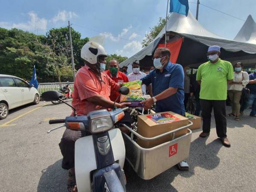
<path id="1" fill-rule="evenodd" d="M 197 0 L 189 0 L 195 16 Z M 256 0 L 200 0 L 201 4 L 240 18 L 199 6 L 198 21 L 209 31 L 233 39 L 247 16 L 256 21 Z M 0 27 L 45 34 L 67 26 L 81 37 L 105 35 L 108 54 L 130 57 L 142 49 L 141 42 L 159 17 L 166 17 L 167 0 L 0 0 Z M 243 21 L 244 20 L 244 21 Z"/>

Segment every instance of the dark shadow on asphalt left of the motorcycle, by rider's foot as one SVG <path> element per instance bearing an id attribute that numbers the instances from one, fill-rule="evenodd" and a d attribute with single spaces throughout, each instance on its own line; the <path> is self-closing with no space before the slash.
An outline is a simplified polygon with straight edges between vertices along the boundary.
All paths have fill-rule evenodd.
<path id="1" fill-rule="evenodd" d="M 43 169 L 38 183 L 38 192 L 67 191 L 67 170 L 61 168 L 62 159 Z"/>

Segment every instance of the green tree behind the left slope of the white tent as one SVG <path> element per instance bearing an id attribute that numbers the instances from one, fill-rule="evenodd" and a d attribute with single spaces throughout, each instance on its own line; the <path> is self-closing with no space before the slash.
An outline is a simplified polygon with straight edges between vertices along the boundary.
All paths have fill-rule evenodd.
<path id="1" fill-rule="evenodd" d="M 170 15 L 167 16 L 167 20 L 169 20 Z M 147 47 L 154 38 L 157 37 L 157 35 L 160 33 L 160 31 L 163 29 L 163 27 L 166 25 L 166 18 L 160 17 L 157 25 L 153 26 L 153 28 L 149 28 L 150 32 L 145 35 L 143 41 L 142 41 L 142 47 Z"/>

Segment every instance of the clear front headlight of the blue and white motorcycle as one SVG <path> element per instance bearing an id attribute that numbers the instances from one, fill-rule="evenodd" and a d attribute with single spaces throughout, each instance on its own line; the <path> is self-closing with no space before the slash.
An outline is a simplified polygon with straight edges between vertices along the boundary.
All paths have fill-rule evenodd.
<path id="1" fill-rule="evenodd" d="M 113 128 L 113 122 L 110 116 L 91 119 L 91 122 L 90 122 L 91 133 L 100 133 L 100 132 L 108 131 L 111 128 Z"/>

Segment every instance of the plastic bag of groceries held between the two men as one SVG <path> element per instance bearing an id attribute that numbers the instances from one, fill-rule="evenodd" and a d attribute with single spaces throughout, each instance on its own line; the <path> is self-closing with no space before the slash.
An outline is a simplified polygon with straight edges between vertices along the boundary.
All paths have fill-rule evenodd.
<path id="1" fill-rule="evenodd" d="M 131 81 L 127 83 L 123 83 L 123 87 L 128 87 L 130 89 L 130 93 L 128 95 L 121 95 L 120 102 L 128 102 L 131 103 L 129 107 L 143 107 L 140 102 L 144 101 L 142 89 L 141 89 L 142 81 Z"/>

